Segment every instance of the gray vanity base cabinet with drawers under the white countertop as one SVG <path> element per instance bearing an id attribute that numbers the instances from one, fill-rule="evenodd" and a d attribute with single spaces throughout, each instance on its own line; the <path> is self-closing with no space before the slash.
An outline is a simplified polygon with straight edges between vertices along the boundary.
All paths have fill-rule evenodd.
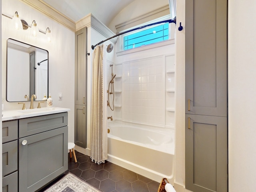
<path id="1" fill-rule="evenodd" d="M 34 192 L 68 169 L 67 112 L 3 122 L 3 132 L 6 124 L 16 126 L 17 136 L 2 144 L 3 191 Z M 5 157 L 5 149 L 12 156 Z M 5 159 L 12 163 L 8 171 Z"/>

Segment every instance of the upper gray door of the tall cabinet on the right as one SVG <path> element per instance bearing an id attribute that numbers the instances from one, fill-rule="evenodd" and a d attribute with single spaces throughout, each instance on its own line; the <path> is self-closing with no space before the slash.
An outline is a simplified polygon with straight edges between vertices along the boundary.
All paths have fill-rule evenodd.
<path id="1" fill-rule="evenodd" d="M 186 114 L 227 116 L 227 2 L 186 0 Z"/>

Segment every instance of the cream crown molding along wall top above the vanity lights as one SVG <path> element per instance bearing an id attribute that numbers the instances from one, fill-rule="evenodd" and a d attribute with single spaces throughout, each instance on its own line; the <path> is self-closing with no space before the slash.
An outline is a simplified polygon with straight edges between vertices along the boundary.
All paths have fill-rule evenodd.
<path id="1" fill-rule="evenodd" d="M 76 23 L 70 18 L 66 17 L 64 14 L 60 13 L 58 10 L 54 9 L 49 4 L 43 2 L 42 0 L 20 0 L 24 4 L 38 10 L 38 12 L 44 14 L 48 18 L 62 24 L 66 28 L 76 31 Z"/>

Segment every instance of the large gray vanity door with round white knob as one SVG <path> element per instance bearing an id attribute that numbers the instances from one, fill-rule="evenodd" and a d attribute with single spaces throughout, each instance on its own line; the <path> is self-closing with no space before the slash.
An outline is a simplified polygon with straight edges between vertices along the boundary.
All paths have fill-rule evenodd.
<path id="1" fill-rule="evenodd" d="M 68 169 L 68 126 L 19 139 L 19 191 L 34 192 Z"/>

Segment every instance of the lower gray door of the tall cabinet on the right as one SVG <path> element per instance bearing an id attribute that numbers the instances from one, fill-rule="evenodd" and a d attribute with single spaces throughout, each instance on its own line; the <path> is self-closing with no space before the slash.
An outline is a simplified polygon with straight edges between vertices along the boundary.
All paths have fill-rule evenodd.
<path id="1" fill-rule="evenodd" d="M 186 114 L 186 189 L 227 192 L 227 118 Z"/>

